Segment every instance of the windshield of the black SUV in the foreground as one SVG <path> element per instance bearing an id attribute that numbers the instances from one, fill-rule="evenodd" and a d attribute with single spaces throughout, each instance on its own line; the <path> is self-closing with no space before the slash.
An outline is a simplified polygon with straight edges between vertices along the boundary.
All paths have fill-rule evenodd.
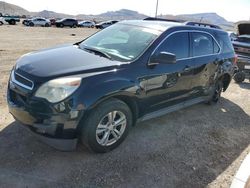
<path id="1" fill-rule="evenodd" d="M 80 48 L 97 49 L 118 61 L 133 61 L 160 35 L 149 28 L 116 24 L 80 44 Z"/>

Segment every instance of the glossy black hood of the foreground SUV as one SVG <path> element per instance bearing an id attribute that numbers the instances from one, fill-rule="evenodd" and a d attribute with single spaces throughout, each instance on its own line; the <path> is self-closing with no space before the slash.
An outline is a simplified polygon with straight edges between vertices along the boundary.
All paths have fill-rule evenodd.
<path id="1" fill-rule="evenodd" d="M 120 64 L 82 50 L 77 45 L 67 45 L 26 54 L 17 61 L 16 70 L 36 77 L 56 77 Z"/>

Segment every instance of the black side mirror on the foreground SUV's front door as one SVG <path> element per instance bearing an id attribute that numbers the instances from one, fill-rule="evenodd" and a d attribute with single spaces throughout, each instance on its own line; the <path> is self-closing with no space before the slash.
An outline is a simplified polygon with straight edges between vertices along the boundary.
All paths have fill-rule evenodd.
<path id="1" fill-rule="evenodd" d="M 155 64 L 174 64 L 176 63 L 176 56 L 169 52 L 160 52 L 151 56 L 149 65 Z"/>

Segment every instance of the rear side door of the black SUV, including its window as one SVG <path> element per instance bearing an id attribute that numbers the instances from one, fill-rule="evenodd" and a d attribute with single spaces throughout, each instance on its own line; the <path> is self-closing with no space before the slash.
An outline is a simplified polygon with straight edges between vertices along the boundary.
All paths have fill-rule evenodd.
<path id="1" fill-rule="evenodd" d="M 195 96 L 209 94 L 218 69 L 219 52 L 220 47 L 211 34 L 191 32 L 191 54 L 195 62 L 192 90 Z"/>

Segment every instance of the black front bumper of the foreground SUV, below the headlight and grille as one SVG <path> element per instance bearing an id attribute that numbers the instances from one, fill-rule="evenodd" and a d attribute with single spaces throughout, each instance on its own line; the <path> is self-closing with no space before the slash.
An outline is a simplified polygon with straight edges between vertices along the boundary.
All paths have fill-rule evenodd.
<path id="1" fill-rule="evenodd" d="M 18 85 L 8 87 L 7 101 L 13 117 L 42 142 L 58 150 L 74 150 L 83 115 L 82 109 L 72 106 L 74 99 L 49 105 L 46 101 L 30 99 L 22 89 Z"/>

